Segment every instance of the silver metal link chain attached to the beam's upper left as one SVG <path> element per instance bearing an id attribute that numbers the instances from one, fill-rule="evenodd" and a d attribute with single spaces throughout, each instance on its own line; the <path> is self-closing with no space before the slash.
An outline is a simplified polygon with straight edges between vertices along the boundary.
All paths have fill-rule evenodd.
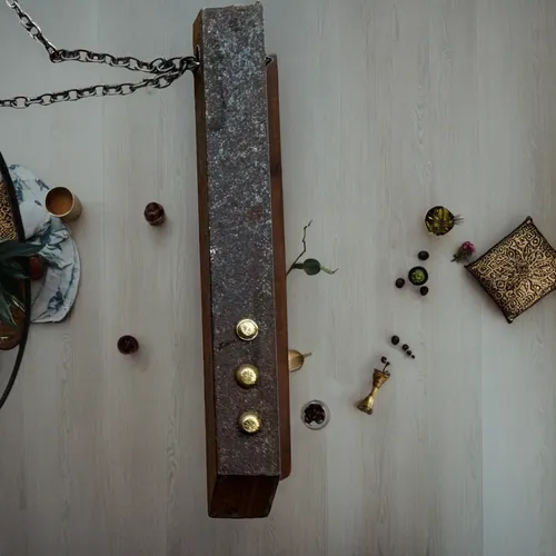
<path id="1" fill-rule="evenodd" d="M 67 89 L 59 92 L 47 92 L 38 97 L 18 96 L 10 99 L 0 99 L 0 108 L 28 108 L 30 106 L 50 106 L 56 102 L 72 102 L 90 97 L 110 97 L 115 95 L 131 95 L 132 92 L 152 87 L 155 89 L 166 89 L 179 79 L 186 71 L 195 71 L 199 67 L 199 61 L 195 56 L 176 57 L 170 59 L 156 58 L 150 62 L 139 60 L 132 56 L 116 57 L 106 52 L 95 52 L 86 49 L 66 50 L 57 49 L 44 37 L 40 27 L 26 13 L 18 0 L 6 0 L 19 18 L 19 22 L 26 31 L 38 42 L 40 42 L 50 61 L 53 63 L 75 61 L 83 63 L 105 63 L 112 68 L 125 68 L 130 71 L 141 71 L 156 77 L 146 78 L 139 82 L 120 85 L 95 85 L 80 89 Z"/>

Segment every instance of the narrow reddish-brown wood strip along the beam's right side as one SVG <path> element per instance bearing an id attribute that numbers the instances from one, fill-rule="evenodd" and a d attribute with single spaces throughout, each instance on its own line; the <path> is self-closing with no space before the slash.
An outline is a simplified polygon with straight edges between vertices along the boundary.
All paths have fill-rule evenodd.
<path id="1" fill-rule="evenodd" d="M 288 369 L 288 300 L 286 239 L 281 172 L 280 101 L 278 59 L 267 66 L 268 136 L 270 142 L 270 187 L 272 202 L 272 250 L 275 270 L 276 363 L 280 411 L 280 478 L 291 473 L 291 430 Z"/>

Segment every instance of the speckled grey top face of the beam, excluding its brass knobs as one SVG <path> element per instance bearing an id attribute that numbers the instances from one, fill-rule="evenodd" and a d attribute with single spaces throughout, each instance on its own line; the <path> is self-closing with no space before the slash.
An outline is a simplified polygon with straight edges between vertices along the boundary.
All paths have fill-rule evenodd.
<path id="1" fill-rule="evenodd" d="M 202 10 L 201 63 L 207 126 L 207 183 L 218 473 L 279 475 L 279 419 L 266 50 L 262 7 Z M 250 342 L 241 318 L 259 325 Z M 250 363 L 259 385 L 240 388 Z M 257 411 L 262 429 L 247 436 L 238 418 Z"/>

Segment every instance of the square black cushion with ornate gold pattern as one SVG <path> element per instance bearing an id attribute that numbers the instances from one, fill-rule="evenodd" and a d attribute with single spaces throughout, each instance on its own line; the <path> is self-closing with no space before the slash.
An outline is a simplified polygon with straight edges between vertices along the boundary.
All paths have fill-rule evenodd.
<path id="1" fill-rule="evenodd" d="M 530 217 L 466 268 L 508 322 L 556 289 L 556 250 Z"/>

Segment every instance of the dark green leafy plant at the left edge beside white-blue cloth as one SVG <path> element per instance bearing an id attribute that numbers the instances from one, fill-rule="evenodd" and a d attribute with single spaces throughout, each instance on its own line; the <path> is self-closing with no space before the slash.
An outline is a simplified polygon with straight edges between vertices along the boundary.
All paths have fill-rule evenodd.
<path id="1" fill-rule="evenodd" d="M 13 239 L 0 241 L 0 324 L 6 327 L 17 326 L 13 309 L 23 307 L 21 280 L 29 278 L 24 259 L 41 249 L 41 245 Z"/>

